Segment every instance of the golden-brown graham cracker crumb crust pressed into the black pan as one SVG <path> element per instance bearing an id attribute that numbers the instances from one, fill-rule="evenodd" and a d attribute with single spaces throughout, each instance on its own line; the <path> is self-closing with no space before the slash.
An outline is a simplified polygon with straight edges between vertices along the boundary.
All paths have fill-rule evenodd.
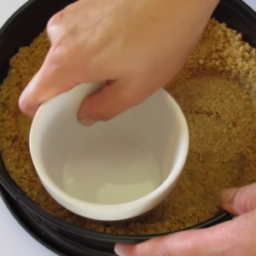
<path id="1" fill-rule="evenodd" d="M 32 166 L 28 148 L 31 119 L 18 98 L 49 50 L 46 33 L 10 61 L 0 97 L 0 147 L 10 176 L 39 207 L 57 218 L 113 234 L 147 235 L 181 230 L 221 212 L 218 193 L 256 180 L 256 50 L 240 33 L 210 20 L 194 53 L 166 85 L 189 124 L 189 156 L 172 194 L 143 222 L 95 224 L 56 203 Z"/>

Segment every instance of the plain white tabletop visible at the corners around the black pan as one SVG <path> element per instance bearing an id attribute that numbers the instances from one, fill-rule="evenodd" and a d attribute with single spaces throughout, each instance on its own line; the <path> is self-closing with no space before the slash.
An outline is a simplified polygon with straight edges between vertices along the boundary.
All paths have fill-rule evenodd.
<path id="1" fill-rule="evenodd" d="M 54 1 L 54 0 L 53 0 Z M 256 10 L 256 0 L 245 0 Z M 26 0 L 0 0 L 0 27 Z M 0 56 L 1 57 L 1 56 Z M 3 256 L 55 256 L 20 227 L 0 197 L 0 254 Z"/>

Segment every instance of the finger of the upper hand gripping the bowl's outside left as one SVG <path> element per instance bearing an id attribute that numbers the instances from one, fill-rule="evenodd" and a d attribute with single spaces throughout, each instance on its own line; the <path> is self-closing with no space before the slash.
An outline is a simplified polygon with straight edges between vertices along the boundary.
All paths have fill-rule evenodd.
<path id="1" fill-rule="evenodd" d="M 60 95 L 78 85 L 73 76 L 69 76 L 66 61 L 61 61 L 49 50 L 44 64 L 27 84 L 19 99 L 20 110 L 33 117 L 39 106 L 49 99 Z"/>

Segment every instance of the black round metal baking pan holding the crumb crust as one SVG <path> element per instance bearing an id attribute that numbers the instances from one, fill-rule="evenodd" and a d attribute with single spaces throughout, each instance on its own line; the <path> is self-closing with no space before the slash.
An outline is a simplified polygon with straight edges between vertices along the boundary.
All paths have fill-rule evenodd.
<path id="1" fill-rule="evenodd" d="M 42 32 L 49 18 L 73 0 L 31 0 L 21 7 L 0 30 L 0 84 L 9 70 L 9 59 L 22 46 L 32 43 Z M 212 15 L 241 32 L 256 47 L 256 14 L 241 0 L 222 0 Z M 20 224 L 38 241 L 60 255 L 114 255 L 115 242 L 140 242 L 154 236 L 117 236 L 85 230 L 44 212 L 26 197 L 9 177 L 0 160 L 0 184 L 3 200 Z M 190 229 L 207 228 L 233 218 L 224 212 Z M 42 235 L 43 234 L 43 235 Z M 159 234 L 155 236 L 160 236 Z"/>

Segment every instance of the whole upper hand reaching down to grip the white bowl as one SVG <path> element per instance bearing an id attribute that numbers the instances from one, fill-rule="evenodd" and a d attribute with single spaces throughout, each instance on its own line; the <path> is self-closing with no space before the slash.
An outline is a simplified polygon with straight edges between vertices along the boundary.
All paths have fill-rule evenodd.
<path id="1" fill-rule="evenodd" d="M 78 84 L 108 81 L 81 105 L 84 125 L 113 119 L 173 79 L 219 0 L 80 0 L 48 22 L 42 67 L 20 96 L 33 117 Z"/>

